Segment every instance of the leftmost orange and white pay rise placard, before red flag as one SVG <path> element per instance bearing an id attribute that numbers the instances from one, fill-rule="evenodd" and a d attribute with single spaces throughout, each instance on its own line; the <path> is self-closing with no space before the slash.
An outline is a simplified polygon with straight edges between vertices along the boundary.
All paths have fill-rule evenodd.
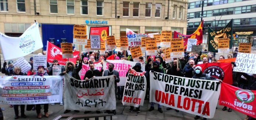
<path id="1" fill-rule="evenodd" d="M 62 58 L 73 58 L 72 43 L 60 43 Z"/>

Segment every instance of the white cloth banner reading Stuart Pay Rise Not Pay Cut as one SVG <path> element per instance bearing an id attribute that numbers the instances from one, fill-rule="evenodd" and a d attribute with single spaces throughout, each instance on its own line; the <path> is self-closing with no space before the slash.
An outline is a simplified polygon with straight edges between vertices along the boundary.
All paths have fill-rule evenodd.
<path id="1" fill-rule="evenodd" d="M 145 72 L 136 72 L 134 69 L 129 71 L 125 82 L 122 104 L 128 106 L 143 106 L 146 94 L 147 81 Z"/>

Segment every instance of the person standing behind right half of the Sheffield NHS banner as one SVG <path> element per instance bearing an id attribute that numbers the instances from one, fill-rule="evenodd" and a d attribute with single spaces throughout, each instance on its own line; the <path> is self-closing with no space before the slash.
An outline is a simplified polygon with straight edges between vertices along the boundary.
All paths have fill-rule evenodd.
<path id="1" fill-rule="evenodd" d="M 34 74 L 34 76 L 48 76 L 47 72 L 45 72 L 45 67 L 44 66 L 38 66 L 38 72 L 36 74 Z M 43 109 L 44 109 L 44 112 L 45 112 L 45 117 L 49 117 L 49 114 L 48 114 L 49 104 L 36 104 L 37 117 L 39 119 L 42 118 L 41 105 L 43 105 Z"/>

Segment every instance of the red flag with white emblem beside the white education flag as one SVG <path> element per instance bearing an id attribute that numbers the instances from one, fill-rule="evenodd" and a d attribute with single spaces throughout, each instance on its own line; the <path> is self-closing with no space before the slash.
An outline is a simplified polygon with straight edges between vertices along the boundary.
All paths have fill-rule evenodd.
<path id="1" fill-rule="evenodd" d="M 79 51 L 75 51 L 73 52 L 73 58 L 64 58 L 62 59 L 62 51 L 61 48 L 55 46 L 54 44 L 50 43 L 49 41 L 47 42 L 47 62 L 51 62 L 53 63 L 54 59 L 58 60 L 58 64 L 60 65 L 66 65 L 65 62 L 66 61 L 72 61 L 74 63 L 76 63 L 77 58 L 79 58 Z"/>

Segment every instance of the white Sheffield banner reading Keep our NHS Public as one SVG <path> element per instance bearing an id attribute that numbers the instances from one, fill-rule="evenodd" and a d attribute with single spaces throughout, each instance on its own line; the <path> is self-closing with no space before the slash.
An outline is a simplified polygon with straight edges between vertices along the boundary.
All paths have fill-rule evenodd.
<path id="1" fill-rule="evenodd" d="M 30 105 L 62 102 L 62 76 L 1 76 L 0 103 Z"/>

